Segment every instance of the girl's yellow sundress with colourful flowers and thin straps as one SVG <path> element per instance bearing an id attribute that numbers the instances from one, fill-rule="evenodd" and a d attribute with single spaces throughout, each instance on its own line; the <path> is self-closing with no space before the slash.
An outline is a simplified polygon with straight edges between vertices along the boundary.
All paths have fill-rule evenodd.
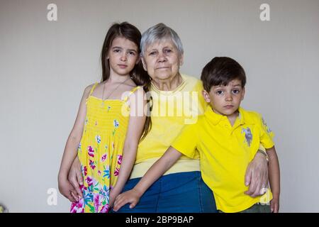
<path id="1" fill-rule="evenodd" d="M 72 213 L 108 212 L 110 189 L 118 178 L 128 128 L 127 100 L 139 88 L 133 88 L 124 99 L 102 100 L 91 96 L 96 85 L 86 99 L 86 118 L 78 148 L 84 179 L 83 199 L 72 203 Z"/>

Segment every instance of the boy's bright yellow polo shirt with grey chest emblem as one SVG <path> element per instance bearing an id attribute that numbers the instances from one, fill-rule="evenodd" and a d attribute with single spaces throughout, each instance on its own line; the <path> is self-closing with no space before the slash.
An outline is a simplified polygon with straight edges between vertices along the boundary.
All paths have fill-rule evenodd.
<path id="1" fill-rule="evenodd" d="M 270 190 L 264 196 L 252 198 L 244 194 L 245 171 L 257 153 L 259 144 L 272 148 L 273 133 L 262 116 L 239 109 L 233 126 L 228 118 L 216 114 L 208 106 L 197 123 L 185 126 L 172 147 L 187 157 L 200 153 L 203 181 L 213 190 L 217 209 L 223 212 L 239 212 L 250 206 L 272 199 Z"/>

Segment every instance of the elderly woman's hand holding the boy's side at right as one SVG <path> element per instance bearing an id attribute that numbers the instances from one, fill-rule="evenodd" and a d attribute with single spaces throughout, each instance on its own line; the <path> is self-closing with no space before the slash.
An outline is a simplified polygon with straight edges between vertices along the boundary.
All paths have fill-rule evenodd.
<path id="1" fill-rule="evenodd" d="M 268 187 L 268 162 L 266 157 L 257 153 L 254 160 L 247 167 L 245 175 L 245 185 L 250 186 L 245 194 L 256 197 L 266 192 L 264 188 Z"/>

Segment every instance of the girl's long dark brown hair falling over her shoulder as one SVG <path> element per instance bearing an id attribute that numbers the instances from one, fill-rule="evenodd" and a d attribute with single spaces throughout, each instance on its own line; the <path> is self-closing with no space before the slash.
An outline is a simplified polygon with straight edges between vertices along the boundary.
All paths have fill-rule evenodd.
<path id="1" fill-rule="evenodd" d="M 140 31 L 135 26 L 131 25 L 128 22 L 123 23 L 113 23 L 111 28 L 108 29 L 108 33 L 106 34 L 103 48 L 101 51 L 101 63 L 102 63 L 102 82 L 106 81 L 110 77 L 110 65 L 107 59 L 108 56 L 108 50 L 112 45 L 112 42 L 115 38 L 123 37 L 127 38 L 128 40 L 132 41 L 138 46 L 138 52 L 140 53 L 140 39 L 142 37 Z M 130 76 L 133 79 L 133 82 L 135 82 L 136 85 L 142 86 L 144 89 L 144 92 L 146 94 L 149 94 L 149 87 L 150 87 L 150 76 L 147 74 L 147 72 L 142 67 L 142 61 L 138 62 L 137 65 L 133 68 L 132 72 L 130 72 Z M 144 139 L 147 133 L 152 128 L 152 121 L 150 118 L 150 101 L 152 100 L 152 97 L 149 97 L 147 99 L 147 116 L 145 125 L 142 131 L 142 136 L 140 140 Z"/>

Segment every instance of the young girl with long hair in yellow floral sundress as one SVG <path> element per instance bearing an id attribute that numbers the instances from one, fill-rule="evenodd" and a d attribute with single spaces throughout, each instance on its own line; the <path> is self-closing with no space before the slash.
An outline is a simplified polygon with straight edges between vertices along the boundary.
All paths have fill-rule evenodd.
<path id="1" fill-rule="evenodd" d="M 140 137 L 150 129 L 143 111 L 150 79 L 140 62 L 140 38 L 138 28 L 126 22 L 113 24 L 106 34 L 102 82 L 84 90 L 58 177 L 61 194 L 72 201 L 71 212 L 109 211 L 130 175 Z M 77 155 L 83 198 L 67 179 Z"/>

